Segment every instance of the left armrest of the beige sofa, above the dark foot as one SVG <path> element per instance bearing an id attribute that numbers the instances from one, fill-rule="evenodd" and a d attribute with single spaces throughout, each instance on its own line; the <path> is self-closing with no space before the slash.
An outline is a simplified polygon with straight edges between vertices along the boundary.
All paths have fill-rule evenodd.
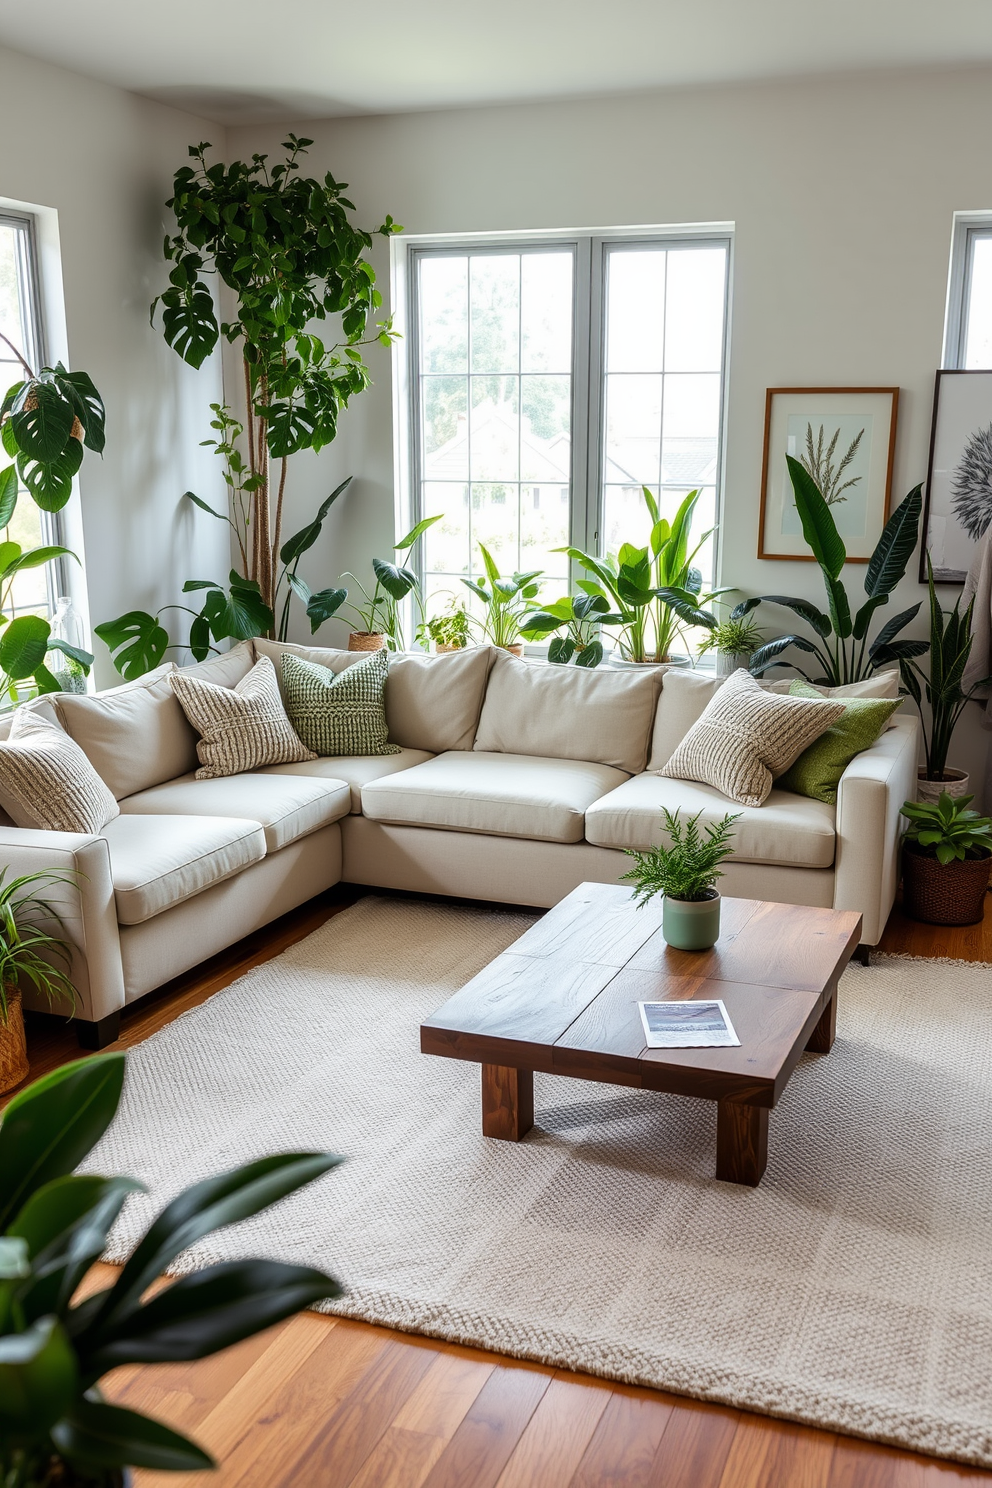
<path id="1" fill-rule="evenodd" d="M 0 868 L 6 868 L 7 879 L 42 870 L 74 875 L 73 884 L 52 884 L 40 894 L 62 917 L 62 934 L 73 949 L 68 975 L 79 992 L 76 1016 L 97 1022 L 123 1007 L 117 911 L 106 838 L 0 827 Z M 59 933 L 57 926 L 52 929 Z M 24 1000 L 28 1007 L 48 1010 L 45 998 L 30 990 Z"/>

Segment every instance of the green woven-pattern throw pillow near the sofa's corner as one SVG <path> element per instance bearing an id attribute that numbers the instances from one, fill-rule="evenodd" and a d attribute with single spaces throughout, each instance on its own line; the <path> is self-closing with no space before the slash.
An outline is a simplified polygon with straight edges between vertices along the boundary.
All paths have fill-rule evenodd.
<path id="1" fill-rule="evenodd" d="M 286 652 L 283 687 L 286 711 L 299 737 L 315 754 L 399 754 L 385 728 L 382 690 L 390 659 L 372 652 L 354 667 L 329 667 Z"/>

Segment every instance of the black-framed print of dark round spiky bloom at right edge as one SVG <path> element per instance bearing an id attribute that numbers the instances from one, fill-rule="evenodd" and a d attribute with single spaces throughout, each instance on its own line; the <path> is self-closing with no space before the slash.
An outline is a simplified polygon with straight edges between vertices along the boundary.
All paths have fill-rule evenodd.
<path id="1" fill-rule="evenodd" d="M 964 583 L 992 519 L 992 372 L 938 372 L 930 433 L 921 582 Z"/>

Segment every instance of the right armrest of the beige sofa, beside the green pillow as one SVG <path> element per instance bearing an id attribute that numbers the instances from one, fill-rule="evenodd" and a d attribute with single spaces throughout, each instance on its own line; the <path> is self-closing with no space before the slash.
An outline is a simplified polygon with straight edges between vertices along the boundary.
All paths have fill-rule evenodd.
<path id="1" fill-rule="evenodd" d="M 833 906 L 864 917 L 864 945 L 882 939 L 895 902 L 903 802 L 916 798 L 918 759 L 919 720 L 900 713 L 840 777 Z"/>

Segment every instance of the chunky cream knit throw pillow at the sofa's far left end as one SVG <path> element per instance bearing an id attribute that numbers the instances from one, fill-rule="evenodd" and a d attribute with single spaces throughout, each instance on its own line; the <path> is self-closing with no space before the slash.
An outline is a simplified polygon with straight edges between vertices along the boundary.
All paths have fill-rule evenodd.
<path id="1" fill-rule="evenodd" d="M 57 723 L 18 708 L 0 744 L 0 805 L 18 827 L 97 835 L 120 815 L 113 793 Z"/>

